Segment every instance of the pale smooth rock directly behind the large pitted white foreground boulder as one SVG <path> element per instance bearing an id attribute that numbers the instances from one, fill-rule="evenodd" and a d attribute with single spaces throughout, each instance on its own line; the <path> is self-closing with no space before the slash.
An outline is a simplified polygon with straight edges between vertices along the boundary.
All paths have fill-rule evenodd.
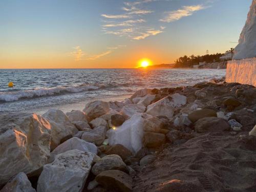
<path id="1" fill-rule="evenodd" d="M 86 142 L 77 137 L 73 137 L 73 138 L 63 142 L 59 146 L 57 146 L 51 152 L 51 158 L 49 159 L 49 162 L 53 162 L 56 155 L 65 153 L 70 150 L 79 150 L 82 152 L 90 152 L 93 154 L 97 154 L 97 151 L 98 151 L 97 146 L 95 144 Z"/>

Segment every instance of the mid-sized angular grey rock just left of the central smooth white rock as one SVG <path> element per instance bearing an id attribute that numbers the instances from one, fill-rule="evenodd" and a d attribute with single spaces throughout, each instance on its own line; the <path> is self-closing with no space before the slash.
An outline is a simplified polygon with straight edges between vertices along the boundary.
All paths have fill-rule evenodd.
<path id="1" fill-rule="evenodd" d="M 93 130 L 87 129 L 81 136 L 81 139 L 87 142 L 95 143 L 96 145 L 100 145 L 106 136 L 106 126 L 98 126 Z"/>

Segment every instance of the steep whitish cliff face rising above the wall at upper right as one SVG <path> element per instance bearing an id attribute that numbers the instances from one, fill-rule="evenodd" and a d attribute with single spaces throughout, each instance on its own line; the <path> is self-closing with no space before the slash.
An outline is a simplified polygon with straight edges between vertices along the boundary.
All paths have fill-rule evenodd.
<path id="1" fill-rule="evenodd" d="M 233 59 L 256 57 L 256 0 L 252 1 Z"/>

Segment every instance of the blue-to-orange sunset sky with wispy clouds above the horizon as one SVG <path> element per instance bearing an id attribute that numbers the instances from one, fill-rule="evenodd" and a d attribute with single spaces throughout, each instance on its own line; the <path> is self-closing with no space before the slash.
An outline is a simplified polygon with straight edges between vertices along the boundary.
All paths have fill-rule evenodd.
<path id="1" fill-rule="evenodd" d="M 2 0 L 0 68 L 134 68 L 236 47 L 251 0 Z"/>

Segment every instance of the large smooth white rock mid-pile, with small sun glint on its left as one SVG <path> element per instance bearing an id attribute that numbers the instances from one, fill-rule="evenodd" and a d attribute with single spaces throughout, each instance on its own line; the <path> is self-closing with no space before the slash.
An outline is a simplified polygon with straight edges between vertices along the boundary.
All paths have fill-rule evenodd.
<path id="1" fill-rule="evenodd" d="M 148 118 L 152 118 L 152 116 L 145 113 L 137 113 L 121 126 L 115 127 L 115 130 L 110 129 L 106 133 L 109 138 L 109 144 L 122 144 L 132 153 L 137 153 L 142 147 L 143 124 Z"/>

